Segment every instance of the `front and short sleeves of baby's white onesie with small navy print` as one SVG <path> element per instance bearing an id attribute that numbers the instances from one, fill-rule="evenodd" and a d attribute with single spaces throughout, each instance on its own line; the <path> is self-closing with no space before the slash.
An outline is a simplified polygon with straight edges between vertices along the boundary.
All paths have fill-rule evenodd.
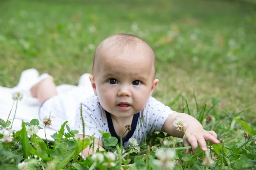
<path id="1" fill-rule="evenodd" d="M 102 130 L 103 132 L 111 133 L 111 136 L 119 138 L 114 130 L 110 113 L 102 108 L 97 96 L 88 97 L 77 108 L 74 128 L 79 130 L 79 134 L 83 132 L 80 114 L 81 106 L 85 135 L 94 135 L 96 138 L 103 140 L 101 133 L 99 133 L 99 130 Z M 144 142 L 147 133 L 161 131 L 167 117 L 173 112 L 168 106 L 150 97 L 145 108 L 139 113 L 134 114 L 131 131 L 123 139 L 123 146 L 129 145 L 128 140 L 130 138 L 137 139 L 138 144 L 140 144 L 140 142 Z M 140 125 L 141 121 L 142 124 Z"/>

